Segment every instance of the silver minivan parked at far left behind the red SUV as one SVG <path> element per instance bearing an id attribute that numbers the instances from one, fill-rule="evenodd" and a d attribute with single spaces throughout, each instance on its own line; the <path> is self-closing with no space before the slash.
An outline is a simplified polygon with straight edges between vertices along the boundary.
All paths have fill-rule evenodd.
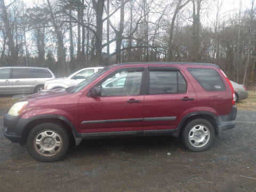
<path id="1" fill-rule="evenodd" d="M 55 76 L 42 67 L 0 67 L 0 94 L 32 94 L 44 89 Z"/>

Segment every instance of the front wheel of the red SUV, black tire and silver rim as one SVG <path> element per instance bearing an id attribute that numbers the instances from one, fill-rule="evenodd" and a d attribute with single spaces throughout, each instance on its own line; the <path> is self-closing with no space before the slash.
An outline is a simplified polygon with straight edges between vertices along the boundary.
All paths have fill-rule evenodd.
<path id="1" fill-rule="evenodd" d="M 41 136 L 42 132 L 44 134 L 46 132 L 49 135 L 50 135 L 51 132 L 52 133 L 57 133 L 57 137 L 55 138 L 55 140 L 52 139 L 53 141 L 51 141 L 51 136 L 50 136 L 49 137 L 50 141 L 49 140 L 46 141 L 46 139 L 49 135 L 47 135 L 47 137 L 43 137 L 43 136 Z M 42 141 L 40 141 L 40 145 L 37 145 L 36 144 L 36 139 L 40 138 L 40 136 L 41 136 Z M 58 146 L 54 147 L 55 143 L 57 143 L 57 140 L 58 140 L 58 142 L 61 143 L 61 146 L 59 148 L 58 148 Z M 47 143 L 47 142 L 50 142 L 50 144 Z M 54 145 L 53 145 L 53 143 L 54 143 Z M 51 146 L 51 144 L 52 144 L 52 146 Z M 49 145 L 50 145 L 50 147 L 49 147 Z M 46 148 L 44 154 L 41 151 L 39 151 L 41 149 L 41 146 L 42 146 L 42 150 L 43 150 L 44 147 Z M 39 125 L 35 126 L 29 132 L 28 137 L 27 137 L 27 148 L 28 148 L 28 151 L 29 151 L 30 155 L 33 156 L 38 161 L 41 161 L 41 162 L 55 162 L 55 161 L 58 161 L 59 159 L 61 159 L 63 156 L 66 155 L 66 153 L 68 151 L 68 148 L 69 148 L 69 135 L 65 131 L 65 129 L 63 129 L 58 124 L 42 123 L 42 124 L 39 124 Z M 47 150 L 55 151 L 56 153 L 55 154 L 50 154 L 50 153 L 47 154 L 46 153 Z"/>

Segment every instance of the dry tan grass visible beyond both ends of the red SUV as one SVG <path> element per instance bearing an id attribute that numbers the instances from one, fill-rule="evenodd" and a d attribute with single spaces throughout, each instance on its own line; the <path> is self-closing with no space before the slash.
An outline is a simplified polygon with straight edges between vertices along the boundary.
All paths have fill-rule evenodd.
<path id="1" fill-rule="evenodd" d="M 0 108 L 9 108 L 19 99 L 0 97 Z M 256 91 L 248 91 L 248 98 L 236 103 L 238 110 L 256 111 Z"/>

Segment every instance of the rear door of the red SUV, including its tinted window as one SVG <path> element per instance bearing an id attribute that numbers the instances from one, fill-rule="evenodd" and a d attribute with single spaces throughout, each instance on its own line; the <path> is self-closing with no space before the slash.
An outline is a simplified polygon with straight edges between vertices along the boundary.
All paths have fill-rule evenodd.
<path id="1" fill-rule="evenodd" d="M 178 68 L 149 67 L 147 74 L 144 133 L 177 128 L 183 116 L 197 110 L 193 86 Z"/>

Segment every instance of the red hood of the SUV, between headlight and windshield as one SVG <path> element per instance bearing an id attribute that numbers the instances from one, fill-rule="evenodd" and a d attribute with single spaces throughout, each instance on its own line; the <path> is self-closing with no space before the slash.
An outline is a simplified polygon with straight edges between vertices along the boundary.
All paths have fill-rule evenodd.
<path id="1" fill-rule="evenodd" d="M 65 94 L 68 94 L 66 89 L 55 89 L 55 90 L 49 90 L 49 91 L 42 91 L 39 93 L 28 95 L 27 97 L 21 99 L 20 101 L 46 99 L 46 98 L 56 97 L 56 96 L 65 95 Z"/>

